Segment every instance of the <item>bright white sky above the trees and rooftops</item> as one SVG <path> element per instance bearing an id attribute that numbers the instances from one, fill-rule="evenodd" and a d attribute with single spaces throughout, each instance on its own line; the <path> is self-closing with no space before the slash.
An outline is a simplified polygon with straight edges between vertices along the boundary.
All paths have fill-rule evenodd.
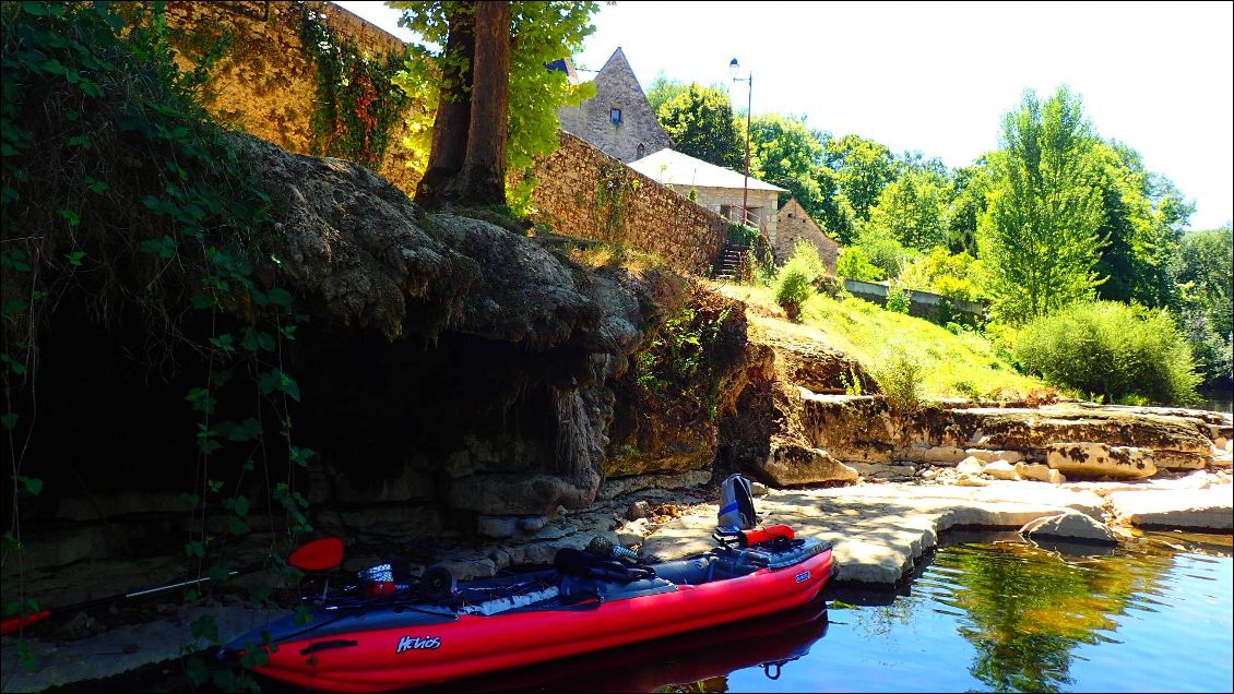
<path id="1" fill-rule="evenodd" d="M 410 39 L 378 1 L 338 5 Z M 1234 2 L 665 2 L 602 5 L 575 63 L 618 47 L 643 88 L 664 74 L 731 86 L 734 107 L 805 116 L 837 137 L 948 166 L 998 147 L 1025 89 L 1060 84 L 1196 203 L 1190 228 L 1234 217 Z M 747 84 L 733 83 L 737 58 Z"/>

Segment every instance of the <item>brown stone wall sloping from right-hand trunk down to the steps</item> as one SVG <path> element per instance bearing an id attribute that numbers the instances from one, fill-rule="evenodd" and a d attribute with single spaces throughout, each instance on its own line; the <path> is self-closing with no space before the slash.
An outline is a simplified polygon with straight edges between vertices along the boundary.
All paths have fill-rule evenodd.
<path id="1" fill-rule="evenodd" d="M 573 237 L 628 243 L 679 271 L 706 275 L 712 269 L 728 238 L 727 219 L 579 137 L 564 131 L 558 137 L 561 148 L 534 168 L 533 219 Z M 600 186 L 608 181 L 624 191 L 619 214 L 613 205 L 597 203 Z"/>

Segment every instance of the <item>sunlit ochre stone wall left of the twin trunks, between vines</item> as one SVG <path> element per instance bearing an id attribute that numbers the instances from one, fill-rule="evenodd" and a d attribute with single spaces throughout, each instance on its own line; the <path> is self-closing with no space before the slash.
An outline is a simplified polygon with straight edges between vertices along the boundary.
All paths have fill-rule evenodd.
<path id="1" fill-rule="evenodd" d="M 338 36 L 373 55 L 404 52 L 405 44 L 363 18 L 332 5 L 313 11 Z M 168 2 L 168 27 L 180 63 L 200 55 L 223 32 L 232 35 L 227 54 L 210 73 L 206 107 L 220 120 L 300 154 L 312 154 L 310 121 L 316 108 L 317 67 L 300 39 L 302 15 L 295 2 Z M 411 105 L 411 108 L 421 108 Z M 399 123 L 378 173 L 408 195 L 420 174 L 407 166 L 402 145 L 410 133 Z"/>

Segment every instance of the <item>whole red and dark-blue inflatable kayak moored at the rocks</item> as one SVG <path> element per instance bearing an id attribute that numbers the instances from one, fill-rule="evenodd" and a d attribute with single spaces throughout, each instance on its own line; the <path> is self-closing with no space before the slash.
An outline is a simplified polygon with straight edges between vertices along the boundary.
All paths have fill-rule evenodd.
<path id="1" fill-rule="evenodd" d="M 405 584 L 375 567 L 362 572 L 365 586 L 254 630 L 220 657 L 264 648 L 263 676 L 383 692 L 745 620 L 806 605 L 830 577 L 830 545 L 791 535 L 717 536 L 703 555 L 650 565 L 615 557 L 619 549 L 563 549 L 554 568 L 459 586 L 432 568 Z"/>

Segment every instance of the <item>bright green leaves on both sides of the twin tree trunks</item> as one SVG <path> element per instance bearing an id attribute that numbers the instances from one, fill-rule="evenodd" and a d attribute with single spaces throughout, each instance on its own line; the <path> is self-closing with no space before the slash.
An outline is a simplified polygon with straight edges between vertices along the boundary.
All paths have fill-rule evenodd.
<path id="1" fill-rule="evenodd" d="M 406 69 L 396 84 L 411 97 L 427 105 L 428 117 L 421 115 L 410 122 L 420 134 L 417 149 L 427 147 L 432 134 L 431 115 L 437 110 L 443 89 L 453 89 L 450 75 L 458 75 L 470 58 L 448 49 L 448 11 L 469 2 L 452 1 L 390 1 L 387 6 L 402 11 L 401 26 L 415 31 L 421 41 L 408 44 Z M 537 157 L 558 148 L 557 110 L 563 105 L 578 106 L 595 96 L 595 85 L 571 85 L 565 73 L 548 70 L 545 65 L 578 53 L 582 41 L 595 32 L 591 17 L 598 2 L 533 2 L 512 4 L 510 44 L 510 131 L 506 145 L 506 168 L 516 174 L 508 186 L 528 185 L 520 181 Z M 427 160 L 426 160 L 427 163 Z M 518 181 L 518 182 L 516 182 Z M 522 191 L 508 190 L 511 200 Z"/>

